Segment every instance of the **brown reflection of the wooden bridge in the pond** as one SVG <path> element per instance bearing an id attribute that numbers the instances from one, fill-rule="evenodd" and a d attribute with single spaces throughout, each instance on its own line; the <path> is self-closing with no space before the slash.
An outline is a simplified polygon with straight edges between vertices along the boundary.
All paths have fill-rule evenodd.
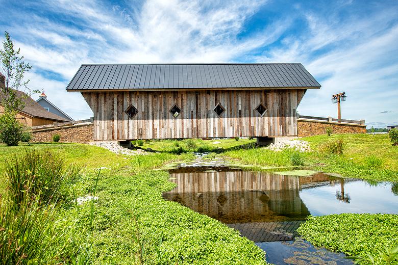
<path id="1" fill-rule="evenodd" d="M 172 173 L 170 177 L 178 186 L 164 193 L 165 199 L 226 223 L 253 241 L 288 240 L 300 220 L 310 215 L 300 190 L 333 184 L 325 174 L 298 177 L 221 171 Z M 280 234 L 281 230 L 286 233 Z"/>

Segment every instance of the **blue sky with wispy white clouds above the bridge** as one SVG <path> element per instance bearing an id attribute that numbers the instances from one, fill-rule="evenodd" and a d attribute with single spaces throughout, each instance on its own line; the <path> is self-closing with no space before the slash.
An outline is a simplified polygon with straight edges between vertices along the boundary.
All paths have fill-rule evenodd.
<path id="1" fill-rule="evenodd" d="M 9 1 L 0 32 L 24 60 L 30 89 L 75 120 L 92 117 L 65 88 L 83 63 L 300 62 L 321 84 L 301 115 L 398 124 L 398 1 Z M 4 39 L 4 38 L 0 38 Z M 38 94 L 32 96 L 38 98 Z"/>

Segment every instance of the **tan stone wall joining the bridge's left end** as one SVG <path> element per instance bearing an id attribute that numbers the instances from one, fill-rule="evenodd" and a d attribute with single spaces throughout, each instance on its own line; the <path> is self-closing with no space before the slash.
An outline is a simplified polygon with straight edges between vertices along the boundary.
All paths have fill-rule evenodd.
<path id="1" fill-rule="evenodd" d="M 88 144 L 94 139 L 94 125 L 72 125 L 59 128 L 45 128 L 32 130 L 32 142 L 52 142 L 53 135 L 61 136 L 60 143 Z"/>

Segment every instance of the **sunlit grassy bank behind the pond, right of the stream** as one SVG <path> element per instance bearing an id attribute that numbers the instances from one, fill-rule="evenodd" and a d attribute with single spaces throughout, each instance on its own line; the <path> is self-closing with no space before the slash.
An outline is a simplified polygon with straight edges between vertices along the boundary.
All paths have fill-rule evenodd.
<path id="1" fill-rule="evenodd" d="M 325 151 L 328 142 L 342 139 L 343 154 Z M 257 167 L 289 167 L 304 165 L 344 177 L 370 180 L 398 181 L 398 146 L 391 145 L 387 135 L 345 134 L 305 137 L 312 151 L 299 153 L 292 150 L 274 152 L 265 148 L 239 149 L 223 153 L 227 159 L 240 165 Z"/>

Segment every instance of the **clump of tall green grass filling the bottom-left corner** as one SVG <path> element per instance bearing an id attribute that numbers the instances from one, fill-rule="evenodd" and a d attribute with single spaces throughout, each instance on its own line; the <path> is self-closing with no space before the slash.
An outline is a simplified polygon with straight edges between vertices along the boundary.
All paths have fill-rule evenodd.
<path id="1" fill-rule="evenodd" d="M 69 223 L 54 222 L 58 207 L 42 206 L 29 195 L 17 206 L 0 200 L 2 264 L 60 264 L 72 237 Z M 60 222 L 60 221 L 58 221 Z"/>

